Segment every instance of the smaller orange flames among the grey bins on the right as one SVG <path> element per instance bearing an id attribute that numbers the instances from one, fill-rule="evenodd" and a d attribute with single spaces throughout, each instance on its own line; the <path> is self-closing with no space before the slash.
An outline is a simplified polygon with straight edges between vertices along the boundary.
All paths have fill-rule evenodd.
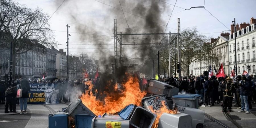
<path id="1" fill-rule="evenodd" d="M 153 110 L 152 106 L 149 107 L 150 111 L 157 115 L 155 123 L 154 123 L 154 128 L 158 128 L 159 119 L 160 119 L 160 117 L 162 116 L 163 113 L 176 114 L 178 112 L 177 109 L 169 110 L 168 107 L 166 106 L 164 100 L 162 100 L 161 102 L 162 102 L 162 107 L 159 108 L 156 111 Z"/>

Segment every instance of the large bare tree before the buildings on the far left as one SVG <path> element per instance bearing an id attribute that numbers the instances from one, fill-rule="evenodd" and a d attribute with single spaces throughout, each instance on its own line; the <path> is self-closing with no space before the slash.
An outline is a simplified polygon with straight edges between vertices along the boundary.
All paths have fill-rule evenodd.
<path id="1" fill-rule="evenodd" d="M 12 44 L 13 65 L 16 56 L 26 53 L 40 45 L 55 45 L 53 33 L 48 22 L 49 15 L 41 9 L 29 9 L 24 5 L 8 0 L 0 1 L 0 39 L 3 47 L 9 48 Z M 15 68 L 13 68 L 15 78 Z"/>

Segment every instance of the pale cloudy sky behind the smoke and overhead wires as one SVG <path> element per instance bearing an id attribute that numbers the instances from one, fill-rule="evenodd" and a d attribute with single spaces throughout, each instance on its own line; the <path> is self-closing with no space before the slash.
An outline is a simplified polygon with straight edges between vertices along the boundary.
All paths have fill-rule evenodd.
<path id="1" fill-rule="evenodd" d="M 24 4 L 30 8 L 41 8 L 44 12 L 52 15 L 53 12 L 57 9 L 60 3 L 63 0 L 16 0 L 20 4 Z M 116 8 L 120 8 L 117 6 L 119 4 L 118 0 L 98 0 L 108 5 L 114 6 Z M 158 1 L 158 0 L 154 0 Z M 162 0 L 164 1 L 164 0 Z M 176 0 L 166 0 L 167 3 L 175 4 Z M 125 0 L 120 0 L 123 3 L 123 10 L 130 12 L 128 8 L 125 7 Z M 129 1 L 131 2 L 131 1 Z M 137 0 L 133 0 L 134 3 L 140 2 Z M 158 1 L 162 3 L 161 1 Z M 113 4 L 114 3 L 114 4 Z M 190 8 L 195 6 L 203 6 L 204 0 L 177 0 L 176 6 L 182 8 Z M 127 24 L 124 20 L 122 11 L 112 8 L 108 5 L 104 5 L 94 0 L 66 0 L 63 5 L 57 10 L 57 12 L 52 16 L 49 20 L 51 23 L 52 30 L 58 31 L 66 31 L 66 25 L 69 24 L 71 27 L 69 29 L 70 32 L 78 32 L 77 26 L 78 24 L 86 24 L 90 29 L 95 28 L 96 34 L 106 35 L 102 36 L 98 40 L 106 40 L 106 44 L 113 44 L 113 19 L 117 18 L 117 27 L 118 26 L 126 26 Z M 173 5 L 166 4 L 166 9 L 163 11 L 162 15 L 159 16 L 162 18 L 161 24 L 166 25 L 168 22 L 169 16 L 173 9 Z M 249 22 L 251 17 L 255 17 L 255 0 L 206 0 L 205 8 L 212 13 L 216 18 L 218 18 L 225 26 L 230 29 L 230 24 L 233 18 L 236 18 L 237 23 L 241 22 Z M 171 16 L 170 22 L 168 24 L 168 28 L 166 32 L 177 32 L 174 29 L 177 29 L 177 18 L 181 19 L 181 31 L 183 28 L 196 26 L 200 33 L 208 37 L 217 38 L 220 35 L 220 32 L 223 30 L 228 30 L 224 25 L 222 25 L 218 20 L 216 20 L 212 15 L 210 15 L 204 8 L 197 9 L 184 9 L 175 7 L 173 11 L 173 15 Z M 113 11 L 116 11 L 116 15 L 113 15 Z M 71 18 L 70 14 L 75 14 L 75 20 Z M 125 13 L 125 16 L 131 17 L 132 15 Z M 122 18 L 118 18 L 122 17 Z M 138 17 L 135 17 L 138 18 Z M 138 19 L 144 20 L 144 19 Z M 127 22 L 131 28 L 139 28 L 140 26 L 136 26 L 137 24 L 133 24 L 133 21 L 127 19 Z M 164 29 L 164 26 L 163 26 Z M 124 32 L 124 29 L 120 27 L 117 29 L 118 32 Z M 86 32 L 86 31 L 85 31 Z M 218 32 L 218 33 L 213 33 Z M 65 42 L 67 40 L 66 32 L 57 32 L 55 33 L 55 41 L 58 42 L 57 49 L 64 49 L 66 51 Z M 210 34 L 205 34 L 210 33 Z M 90 37 L 92 35 L 86 34 L 78 34 L 78 33 L 70 33 L 70 53 L 79 54 L 81 52 L 90 54 L 97 54 L 97 49 L 92 45 L 80 45 L 80 44 L 92 44 L 90 42 Z M 94 33 L 95 34 L 95 33 Z M 85 38 L 82 38 L 84 36 Z M 113 51 L 113 45 L 108 45 L 106 50 Z"/>

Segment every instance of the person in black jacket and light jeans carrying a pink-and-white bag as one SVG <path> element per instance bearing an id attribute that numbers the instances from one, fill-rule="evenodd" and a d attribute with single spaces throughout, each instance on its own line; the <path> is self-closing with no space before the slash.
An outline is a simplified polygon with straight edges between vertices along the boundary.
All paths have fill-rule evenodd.
<path id="1" fill-rule="evenodd" d="M 30 91 L 28 80 L 26 79 L 21 80 L 20 89 L 22 89 L 22 96 L 21 98 L 19 98 L 20 114 L 27 114 L 26 110 L 27 110 L 27 103 L 28 103 L 28 92 Z"/>

